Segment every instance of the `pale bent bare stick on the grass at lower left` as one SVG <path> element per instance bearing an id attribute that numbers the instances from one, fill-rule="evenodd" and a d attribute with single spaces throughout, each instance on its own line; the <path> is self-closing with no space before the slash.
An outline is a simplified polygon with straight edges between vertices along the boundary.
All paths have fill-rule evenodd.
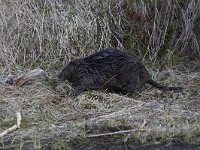
<path id="1" fill-rule="evenodd" d="M 15 124 L 14 126 L 6 129 L 5 131 L 3 131 L 1 134 L 0 134 L 0 138 L 7 135 L 9 132 L 12 132 L 18 128 L 20 128 L 20 125 L 21 125 L 21 120 L 22 120 L 22 117 L 21 117 L 21 113 L 20 112 L 17 112 L 16 113 L 17 115 L 17 124 Z"/>

